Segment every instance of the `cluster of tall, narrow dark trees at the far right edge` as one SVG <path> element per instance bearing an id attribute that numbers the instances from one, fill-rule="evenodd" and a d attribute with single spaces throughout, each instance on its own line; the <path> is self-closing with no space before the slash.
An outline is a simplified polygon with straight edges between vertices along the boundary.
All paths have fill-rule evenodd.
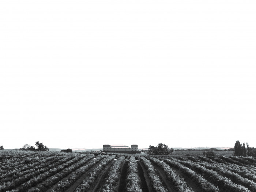
<path id="1" fill-rule="evenodd" d="M 254 147 L 249 147 L 249 144 L 246 142 L 246 147 L 245 143 L 240 143 L 240 141 L 236 141 L 235 147 L 234 147 L 234 156 L 252 156 L 256 157 L 256 148 Z"/>

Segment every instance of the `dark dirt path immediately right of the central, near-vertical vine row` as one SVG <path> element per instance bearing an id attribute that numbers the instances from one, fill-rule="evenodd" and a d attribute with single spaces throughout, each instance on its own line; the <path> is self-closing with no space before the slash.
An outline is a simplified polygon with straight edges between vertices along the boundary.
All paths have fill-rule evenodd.
<path id="1" fill-rule="evenodd" d="M 150 183 L 150 179 L 147 176 L 147 171 L 143 167 L 142 163 L 138 161 L 138 171 L 139 171 L 139 177 L 141 180 L 140 188 L 143 192 L 153 192 L 152 185 Z"/>

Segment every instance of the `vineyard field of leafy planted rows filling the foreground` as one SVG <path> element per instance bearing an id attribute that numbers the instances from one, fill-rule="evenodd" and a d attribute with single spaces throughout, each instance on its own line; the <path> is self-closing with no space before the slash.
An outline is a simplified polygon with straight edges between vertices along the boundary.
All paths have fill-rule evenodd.
<path id="1" fill-rule="evenodd" d="M 195 153 L 149 157 L 1 150 L 0 192 L 256 191 L 256 158 Z"/>

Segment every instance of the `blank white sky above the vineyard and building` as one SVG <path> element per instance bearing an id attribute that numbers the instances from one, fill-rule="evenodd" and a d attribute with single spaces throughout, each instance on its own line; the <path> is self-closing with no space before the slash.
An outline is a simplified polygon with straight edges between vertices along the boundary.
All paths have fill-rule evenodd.
<path id="1" fill-rule="evenodd" d="M 0 1 L 0 145 L 256 147 L 255 1 Z"/>

